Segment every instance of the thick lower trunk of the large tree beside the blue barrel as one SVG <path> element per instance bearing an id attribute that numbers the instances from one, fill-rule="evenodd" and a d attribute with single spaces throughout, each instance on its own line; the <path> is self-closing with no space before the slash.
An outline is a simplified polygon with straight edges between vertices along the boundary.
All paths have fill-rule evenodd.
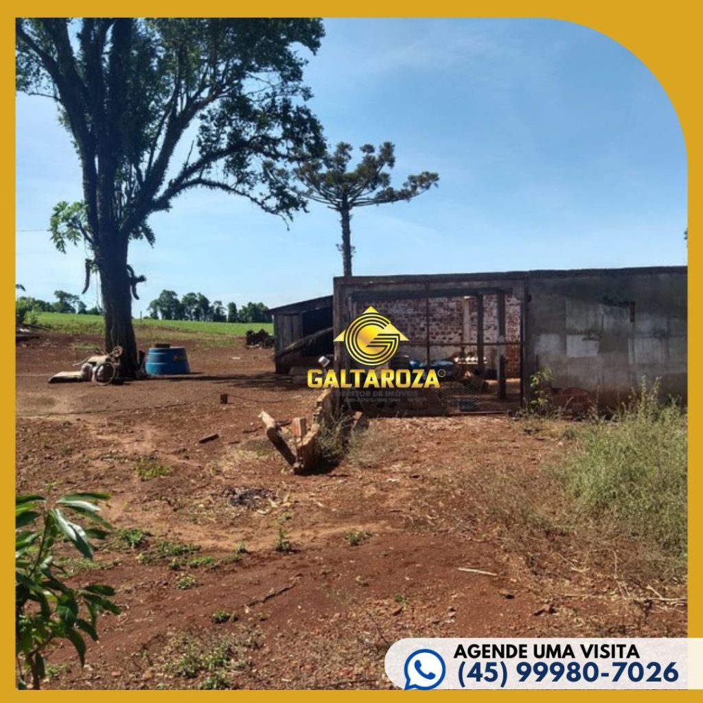
<path id="1" fill-rule="evenodd" d="M 105 307 L 105 351 L 109 354 L 115 347 L 122 347 L 120 374 L 135 378 L 138 364 L 127 273 L 127 240 L 116 239 L 112 233 L 102 236 L 96 252 Z"/>

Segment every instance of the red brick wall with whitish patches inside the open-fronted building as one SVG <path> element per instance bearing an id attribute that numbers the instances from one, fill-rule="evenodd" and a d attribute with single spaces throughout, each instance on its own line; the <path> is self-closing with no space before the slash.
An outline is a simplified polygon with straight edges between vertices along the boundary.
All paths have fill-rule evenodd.
<path id="1" fill-rule="evenodd" d="M 476 344 L 478 301 L 476 297 L 469 299 L 470 336 L 468 340 L 463 340 L 463 300 L 463 297 L 430 298 L 430 346 L 434 347 L 431 349 L 434 358 L 444 359 L 460 352 L 463 342 L 468 351 L 475 351 L 475 346 L 472 349 L 470 345 Z M 484 295 L 483 302 L 484 342 L 498 342 L 498 296 Z M 425 359 L 425 352 L 422 350 L 427 347 L 427 299 L 378 300 L 363 304 L 358 313 L 368 305 L 389 318 L 408 337 L 408 353 L 412 350 L 415 355 Z M 511 295 L 505 297 L 505 341 L 520 342 L 520 300 Z M 489 367 L 496 367 L 497 354 L 497 347 L 485 347 Z M 520 347 L 506 347 L 505 359 L 507 375 L 520 375 Z"/>

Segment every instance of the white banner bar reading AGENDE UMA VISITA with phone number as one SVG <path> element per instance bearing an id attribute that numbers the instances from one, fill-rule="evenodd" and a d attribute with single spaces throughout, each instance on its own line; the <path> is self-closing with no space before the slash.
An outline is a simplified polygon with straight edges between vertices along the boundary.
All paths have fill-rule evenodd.
<path id="1" fill-rule="evenodd" d="M 385 669 L 405 690 L 703 688 L 703 640 L 413 638 Z"/>

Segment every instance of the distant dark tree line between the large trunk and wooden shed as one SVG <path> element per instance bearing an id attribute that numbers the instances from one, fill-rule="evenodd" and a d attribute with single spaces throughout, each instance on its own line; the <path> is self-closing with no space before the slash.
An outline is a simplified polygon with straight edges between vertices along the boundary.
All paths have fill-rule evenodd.
<path id="1" fill-rule="evenodd" d="M 249 302 L 240 309 L 235 303 L 225 307 L 221 300 L 209 302 L 202 293 L 186 293 L 179 299 L 175 290 L 162 290 L 148 305 L 151 317 L 162 320 L 197 320 L 201 322 L 271 322 L 264 303 Z"/>

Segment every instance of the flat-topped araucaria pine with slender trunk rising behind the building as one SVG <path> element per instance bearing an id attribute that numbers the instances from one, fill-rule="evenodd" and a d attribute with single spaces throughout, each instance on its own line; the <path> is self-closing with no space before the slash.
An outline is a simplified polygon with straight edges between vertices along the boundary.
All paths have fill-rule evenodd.
<path id="1" fill-rule="evenodd" d="M 340 214 L 342 243 L 337 247 L 342 252 L 344 276 L 352 275 L 352 210 L 365 205 L 412 200 L 439 181 L 436 173 L 423 171 L 408 176 L 402 188 L 392 188 L 387 169 L 395 165 L 394 145 L 384 142 L 377 153 L 374 146 L 365 144 L 360 151 L 363 156 L 353 169 L 349 168 L 352 145 L 340 142 L 334 151 L 327 149 L 323 156 L 305 160 L 295 170 L 306 188 L 307 198 L 322 202 Z"/>

